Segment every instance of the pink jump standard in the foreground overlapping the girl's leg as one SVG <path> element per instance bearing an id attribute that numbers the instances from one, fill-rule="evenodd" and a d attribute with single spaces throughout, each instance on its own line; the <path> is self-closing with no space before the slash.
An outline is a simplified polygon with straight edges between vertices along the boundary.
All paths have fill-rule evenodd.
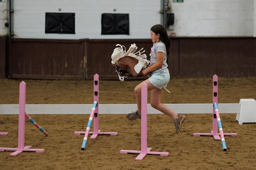
<path id="1" fill-rule="evenodd" d="M 152 148 L 147 147 L 147 105 L 148 105 L 148 86 L 144 83 L 142 85 L 142 117 L 141 117 L 141 151 L 134 150 L 121 150 L 120 153 L 138 153 L 139 155 L 135 158 L 135 160 L 142 160 L 146 154 L 152 155 L 160 155 L 160 156 L 168 156 L 169 152 L 152 152 Z"/>

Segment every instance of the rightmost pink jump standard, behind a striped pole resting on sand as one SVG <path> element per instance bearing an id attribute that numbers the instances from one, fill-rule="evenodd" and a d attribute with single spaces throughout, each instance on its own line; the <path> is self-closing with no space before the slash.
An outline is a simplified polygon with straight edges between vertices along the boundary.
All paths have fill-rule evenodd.
<path id="1" fill-rule="evenodd" d="M 237 133 L 223 133 L 222 134 L 218 133 L 218 118 L 216 115 L 214 103 L 218 103 L 218 76 L 215 74 L 213 76 L 213 130 L 211 133 L 193 133 L 193 136 L 213 136 L 214 140 L 222 140 L 220 138 L 220 135 L 222 134 L 224 136 L 237 136 Z M 219 115 L 219 112 L 217 113 Z M 222 138 L 224 138 L 224 136 Z M 226 149 L 223 148 L 223 151 L 226 151 Z"/>

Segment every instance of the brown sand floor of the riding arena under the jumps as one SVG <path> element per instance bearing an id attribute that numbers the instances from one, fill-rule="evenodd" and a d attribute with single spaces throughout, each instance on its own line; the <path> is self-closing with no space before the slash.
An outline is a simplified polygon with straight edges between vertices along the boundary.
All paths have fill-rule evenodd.
<path id="1" fill-rule="evenodd" d="M 18 104 L 19 83 L 22 80 L 0 79 L 0 104 Z M 24 80 L 27 84 L 27 104 L 92 104 L 93 81 Z M 136 103 L 133 89 L 141 81 L 100 80 L 101 104 Z M 120 88 L 122 87 L 122 88 Z M 256 99 L 256 77 L 219 77 L 219 103 L 239 103 L 240 98 Z M 212 78 L 171 79 L 162 103 L 211 103 Z M 148 96 L 150 100 L 150 95 Z M 90 111 L 87 111 L 90 112 Z M 28 113 L 29 114 L 29 113 Z M 169 152 L 168 157 L 147 155 L 135 161 L 137 154 L 120 154 L 121 149 L 140 150 L 140 120 L 128 121 L 123 114 L 100 115 L 102 131 L 118 132 L 118 136 L 98 136 L 89 139 L 81 151 L 83 135 L 74 131 L 86 129 L 89 114 L 31 115 L 49 136 L 45 137 L 26 121 L 25 145 L 45 149 L 44 153 L 26 152 L 9 157 L 11 152 L 0 152 L 0 169 L 243 169 L 256 166 L 256 124 L 239 125 L 236 114 L 221 114 L 223 131 L 236 132 L 226 136 L 227 151 L 213 137 L 194 137 L 195 132 L 210 132 L 211 114 L 186 114 L 182 129 L 175 134 L 173 121 L 164 114 L 148 115 L 148 147 L 152 151 Z M 92 125 L 93 127 L 93 125 Z M 91 127 L 91 129 L 92 129 Z M 17 147 L 18 115 L 0 114 L 0 147 Z"/>

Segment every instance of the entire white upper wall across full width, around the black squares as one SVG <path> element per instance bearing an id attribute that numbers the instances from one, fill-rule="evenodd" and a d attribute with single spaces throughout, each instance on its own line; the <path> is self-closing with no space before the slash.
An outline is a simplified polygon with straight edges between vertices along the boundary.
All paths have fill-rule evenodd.
<path id="1" fill-rule="evenodd" d="M 148 39 L 150 27 L 162 23 L 162 0 L 11 1 L 13 38 Z M 4 27 L 8 21 L 8 2 L 0 2 L 0 36 L 8 34 Z M 256 0 L 170 0 L 170 3 L 175 23 L 168 33 L 188 37 L 256 36 Z M 46 12 L 75 13 L 75 34 L 45 34 Z M 129 13 L 130 35 L 101 35 L 102 13 Z"/>

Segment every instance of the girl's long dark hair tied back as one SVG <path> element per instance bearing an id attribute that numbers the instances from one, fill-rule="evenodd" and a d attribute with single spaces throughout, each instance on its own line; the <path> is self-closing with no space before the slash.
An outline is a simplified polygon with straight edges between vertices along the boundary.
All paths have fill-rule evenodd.
<path id="1" fill-rule="evenodd" d="M 170 54 L 170 39 L 169 36 L 167 35 L 165 28 L 160 24 L 156 24 L 153 27 L 151 27 L 150 30 L 153 31 L 155 34 L 160 35 L 160 40 L 164 42 L 166 48 L 166 55 L 168 56 Z"/>

